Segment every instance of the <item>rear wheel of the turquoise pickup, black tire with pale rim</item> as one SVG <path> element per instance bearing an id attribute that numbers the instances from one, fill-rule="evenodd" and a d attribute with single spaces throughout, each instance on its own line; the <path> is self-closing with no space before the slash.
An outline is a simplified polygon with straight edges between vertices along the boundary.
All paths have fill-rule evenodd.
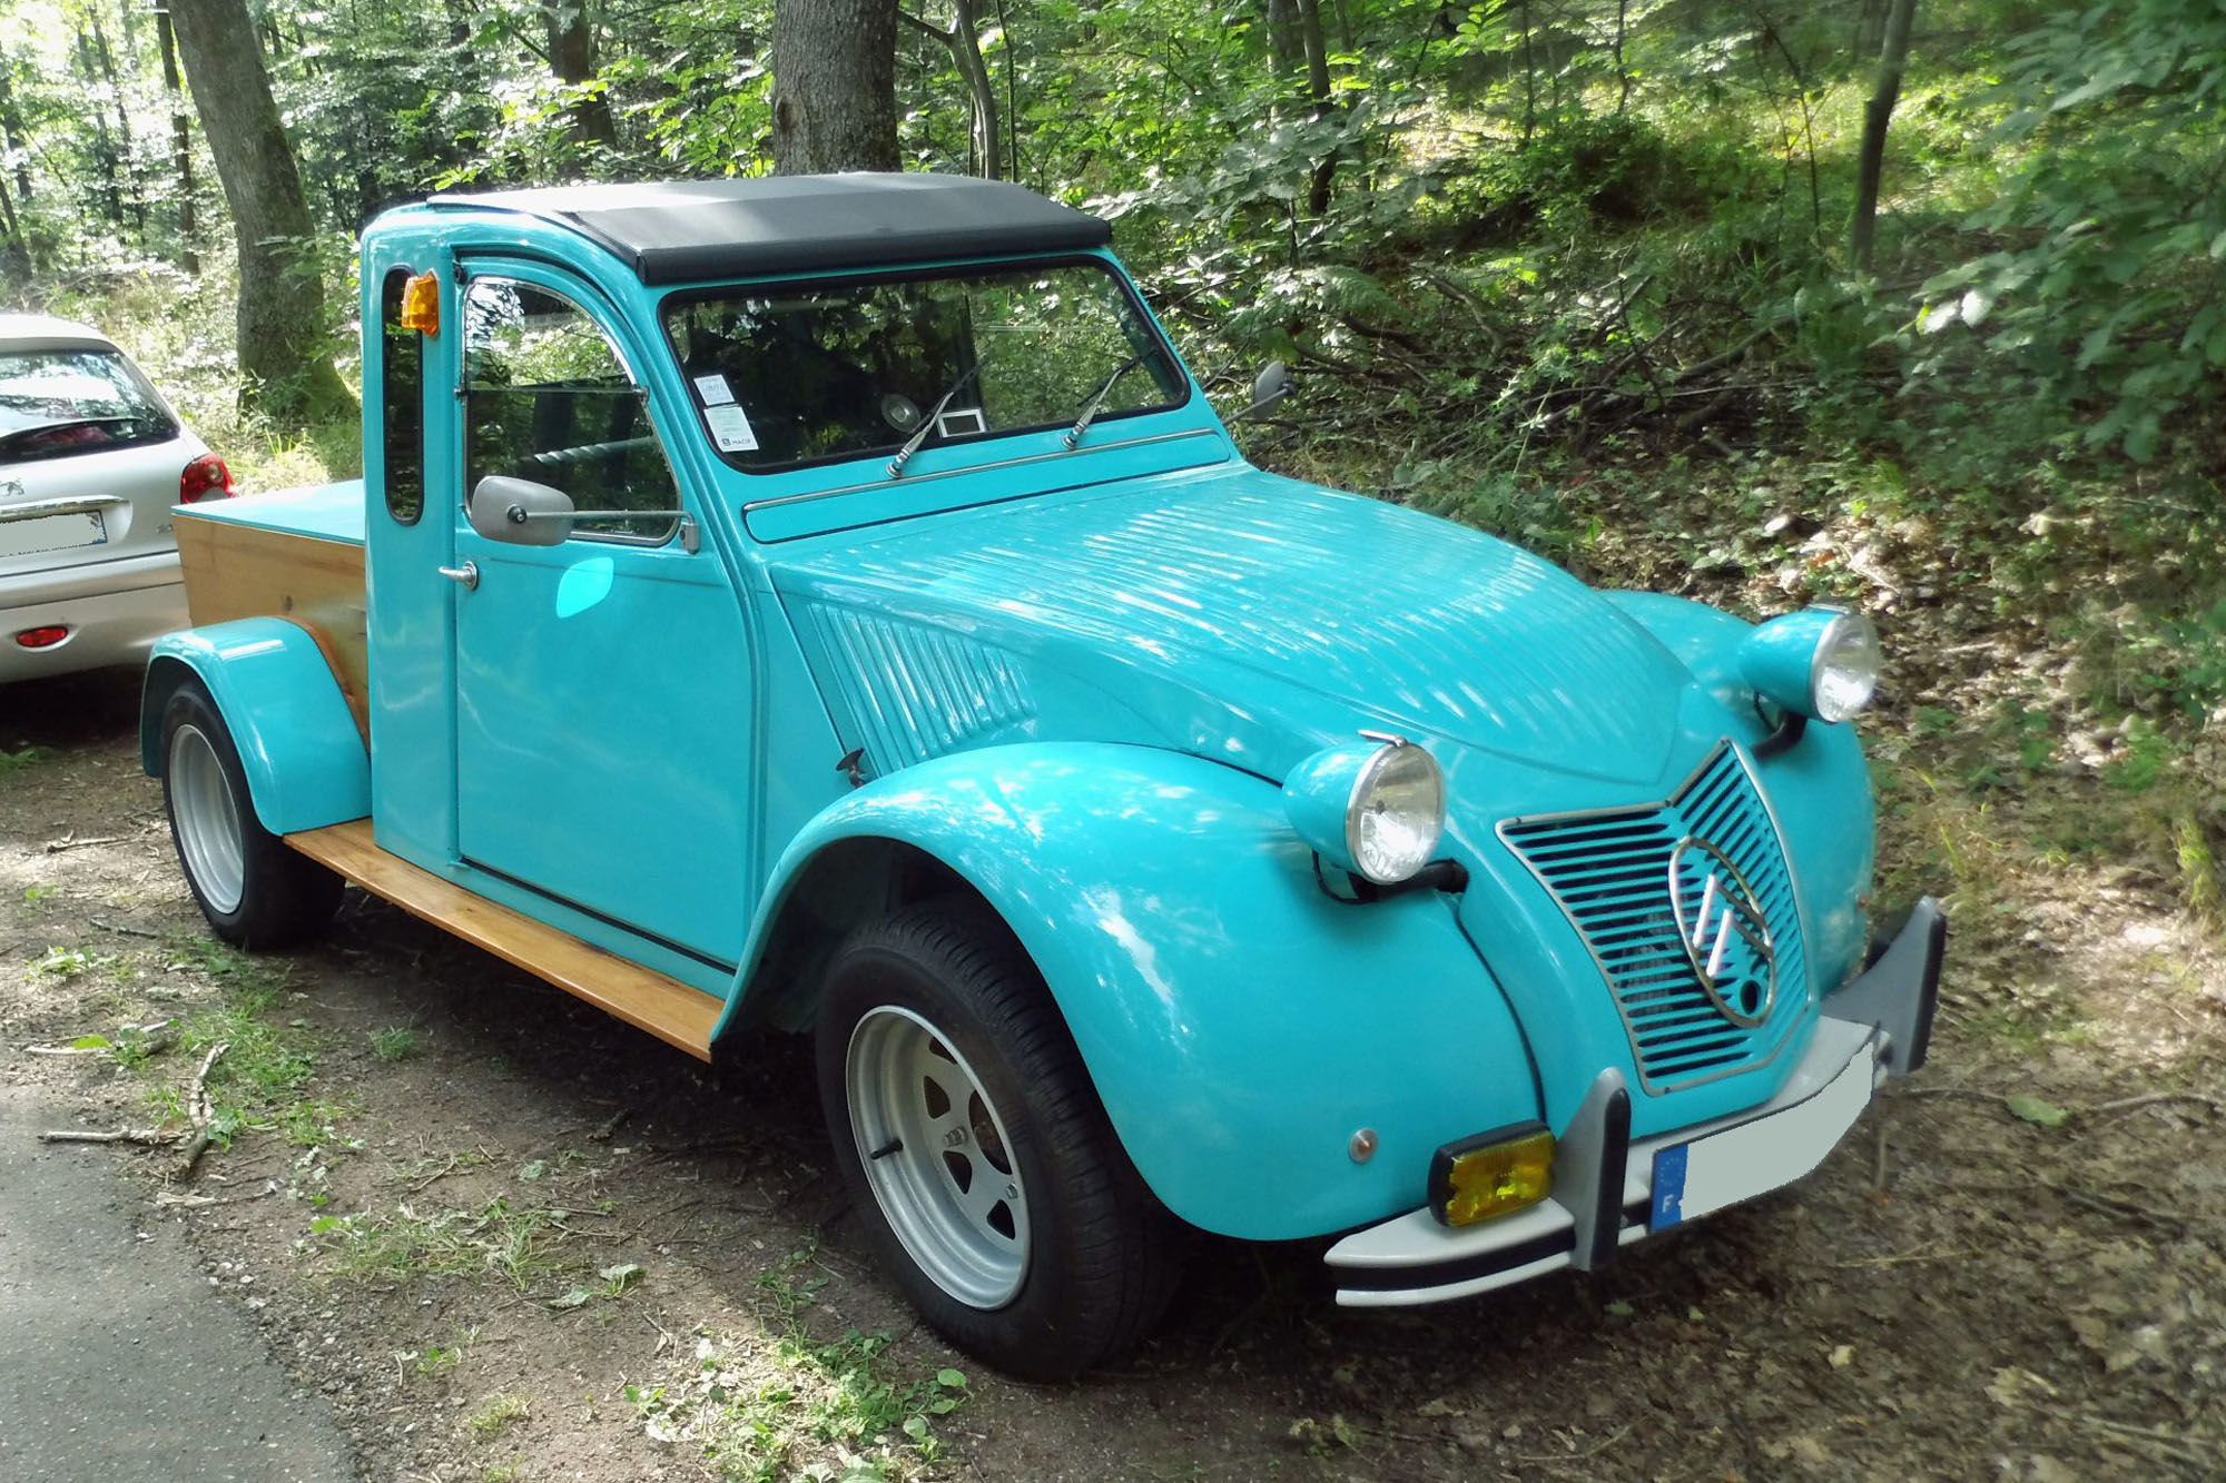
<path id="1" fill-rule="evenodd" d="M 162 706 L 162 806 L 185 884 L 218 937 L 278 949 L 332 922 L 341 877 L 256 819 L 232 728 L 198 679 L 183 681 Z"/>

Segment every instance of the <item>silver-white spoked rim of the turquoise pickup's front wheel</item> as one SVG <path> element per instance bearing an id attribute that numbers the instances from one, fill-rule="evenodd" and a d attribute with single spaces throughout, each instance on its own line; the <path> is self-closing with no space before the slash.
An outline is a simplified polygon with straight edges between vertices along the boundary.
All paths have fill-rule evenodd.
<path id="1" fill-rule="evenodd" d="M 959 1303 L 999 1309 L 1028 1276 L 1028 1194 L 997 1107 L 948 1035 L 884 1004 L 850 1031 L 850 1133 L 897 1240 Z"/>

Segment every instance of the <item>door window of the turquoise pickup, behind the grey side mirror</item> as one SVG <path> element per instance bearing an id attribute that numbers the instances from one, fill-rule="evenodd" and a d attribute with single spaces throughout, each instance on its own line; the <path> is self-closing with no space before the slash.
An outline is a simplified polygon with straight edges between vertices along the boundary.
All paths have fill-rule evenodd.
<path id="1" fill-rule="evenodd" d="M 561 294 L 479 278 L 463 296 L 465 497 L 487 474 L 563 490 L 574 510 L 657 510 L 579 521 L 574 537 L 657 543 L 679 508 L 648 394 L 617 345 Z"/>

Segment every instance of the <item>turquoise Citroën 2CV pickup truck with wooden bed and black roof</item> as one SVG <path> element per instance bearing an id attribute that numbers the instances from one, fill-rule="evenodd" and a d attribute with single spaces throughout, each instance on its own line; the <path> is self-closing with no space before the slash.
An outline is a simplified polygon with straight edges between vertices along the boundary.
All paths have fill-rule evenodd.
<path id="1" fill-rule="evenodd" d="M 363 325 L 365 479 L 176 512 L 209 924 L 345 877 L 692 1055 L 815 1035 L 881 1265 L 1006 1372 L 1135 1343 L 1186 1227 L 1347 1305 L 1598 1269 L 1925 1055 L 1870 621 L 1249 465 L 1089 214 L 436 196 Z"/>

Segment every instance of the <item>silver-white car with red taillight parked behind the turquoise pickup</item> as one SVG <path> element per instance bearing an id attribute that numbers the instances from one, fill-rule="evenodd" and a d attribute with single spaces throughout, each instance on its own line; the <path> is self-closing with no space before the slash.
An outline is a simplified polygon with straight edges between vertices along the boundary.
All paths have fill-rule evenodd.
<path id="1" fill-rule="evenodd" d="M 229 494 L 116 341 L 0 314 L 0 684 L 142 664 L 189 621 L 171 508 Z"/>

